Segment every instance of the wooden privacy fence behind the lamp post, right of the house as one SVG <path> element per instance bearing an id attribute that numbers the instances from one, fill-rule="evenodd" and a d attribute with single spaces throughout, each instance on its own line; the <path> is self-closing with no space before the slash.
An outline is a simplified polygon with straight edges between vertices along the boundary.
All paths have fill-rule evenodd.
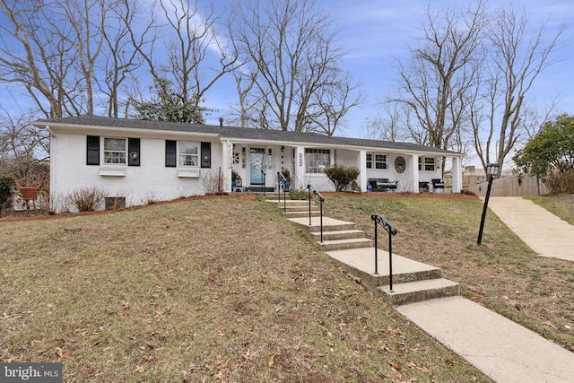
<path id="1" fill-rule="evenodd" d="M 464 187 L 472 191 L 476 196 L 486 196 L 488 182 Z M 522 176 L 522 181 L 518 182 L 515 175 L 495 178 L 492 182 L 491 196 L 539 196 L 550 193 L 550 189 L 542 181 L 537 182 L 536 178 Z"/>

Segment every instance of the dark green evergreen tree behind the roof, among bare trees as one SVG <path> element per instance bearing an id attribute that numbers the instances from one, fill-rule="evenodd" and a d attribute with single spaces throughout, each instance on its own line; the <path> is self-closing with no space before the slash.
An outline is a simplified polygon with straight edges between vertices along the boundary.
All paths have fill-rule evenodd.
<path id="1" fill-rule="evenodd" d="M 137 114 L 135 118 L 167 121 L 187 122 L 190 124 L 204 124 L 204 112 L 211 111 L 197 105 L 198 100 L 194 97 L 187 99 L 173 89 L 173 83 L 167 79 L 154 81 L 152 91 L 156 96 L 150 102 L 141 102 L 135 106 Z"/>

